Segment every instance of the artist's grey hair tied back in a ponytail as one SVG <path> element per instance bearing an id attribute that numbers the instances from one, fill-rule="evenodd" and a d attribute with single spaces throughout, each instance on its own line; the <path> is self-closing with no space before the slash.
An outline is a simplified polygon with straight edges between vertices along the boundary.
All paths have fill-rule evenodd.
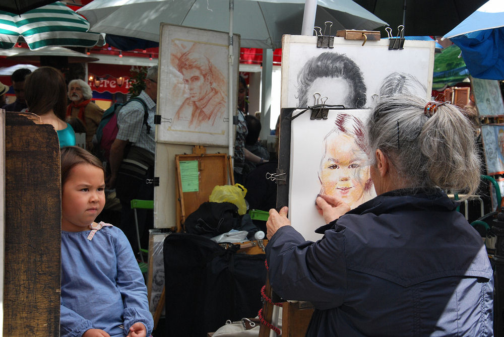
<path id="1" fill-rule="evenodd" d="M 404 94 L 375 100 L 366 127 L 371 165 L 380 149 L 406 187 L 474 194 L 481 163 L 471 122 L 451 104 L 438 106 L 428 117 L 426 103 Z"/>

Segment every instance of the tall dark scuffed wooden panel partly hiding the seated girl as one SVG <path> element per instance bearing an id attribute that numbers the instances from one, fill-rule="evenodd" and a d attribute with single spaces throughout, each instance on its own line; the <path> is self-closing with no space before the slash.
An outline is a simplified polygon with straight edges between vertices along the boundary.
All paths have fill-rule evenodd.
<path id="1" fill-rule="evenodd" d="M 6 113 L 5 336 L 59 335 L 59 143 L 37 119 Z"/>

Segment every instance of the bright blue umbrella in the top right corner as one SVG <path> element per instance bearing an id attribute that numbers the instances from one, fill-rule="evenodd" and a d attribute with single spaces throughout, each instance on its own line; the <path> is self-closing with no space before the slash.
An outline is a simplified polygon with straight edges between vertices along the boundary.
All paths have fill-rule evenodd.
<path id="1" fill-rule="evenodd" d="M 504 2 L 489 0 L 443 36 L 460 47 L 472 77 L 504 79 Z"/>

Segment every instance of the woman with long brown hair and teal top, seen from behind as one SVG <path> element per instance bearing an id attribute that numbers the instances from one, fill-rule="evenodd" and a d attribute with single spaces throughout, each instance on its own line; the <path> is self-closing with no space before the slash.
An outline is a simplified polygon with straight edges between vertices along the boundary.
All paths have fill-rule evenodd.
<path id="1" fill-rule="evenodd" d="M 65 122 L 67 85 L 63 74 L 50 66 L 42 66 L 25 79 L 28 111 L 40 116 L 42 123 L 56 129 L 59 147 L 75 145 L 75 132 Z"/>

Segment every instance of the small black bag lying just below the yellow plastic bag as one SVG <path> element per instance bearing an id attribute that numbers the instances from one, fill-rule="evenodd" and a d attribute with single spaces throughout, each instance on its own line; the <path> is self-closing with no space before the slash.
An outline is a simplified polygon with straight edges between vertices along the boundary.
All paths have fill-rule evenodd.
<path id="1" fill-rule="evenodd" d="M 239 224 L 238 208 L 232 203 L 203 203 L 184 222 L 187 233 L 214 237 Z"/>

